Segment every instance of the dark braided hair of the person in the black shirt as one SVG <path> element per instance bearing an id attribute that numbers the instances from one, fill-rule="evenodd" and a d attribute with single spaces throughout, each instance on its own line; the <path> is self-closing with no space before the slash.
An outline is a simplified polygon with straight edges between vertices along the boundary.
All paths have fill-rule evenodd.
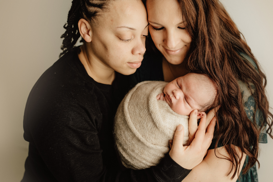
<path id="1" fill-rule="evenodd" d="M 80 19 L 90 21 L 94 20 L 98 13 L 106 8 L 109 0 L 73 0 L 72 6 L 68 12 L 67 23 L 63 26 L 66 32 L 62 34 L 62 53 L 61 57 L 66 52 L 75 48 L 75 44 L 81 36 L 79 33 L 78 22 Z M 90 21 L 89 21 L 90 20 Z M 82 39 L 80 42 L 84 42 Z"/>

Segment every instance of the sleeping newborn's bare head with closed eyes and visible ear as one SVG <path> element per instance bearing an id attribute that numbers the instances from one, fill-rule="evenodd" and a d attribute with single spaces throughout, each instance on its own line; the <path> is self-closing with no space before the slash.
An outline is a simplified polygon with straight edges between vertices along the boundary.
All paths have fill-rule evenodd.
<path id="1" fill-rule="evenodd" d="M 199 119 L 214 103 L 217 87 L 208 76 L 188 73 L 168 83 L 163 92 L 164 100 L 174 112 L 190 115 L 192 110 L 197 109 Z"/>

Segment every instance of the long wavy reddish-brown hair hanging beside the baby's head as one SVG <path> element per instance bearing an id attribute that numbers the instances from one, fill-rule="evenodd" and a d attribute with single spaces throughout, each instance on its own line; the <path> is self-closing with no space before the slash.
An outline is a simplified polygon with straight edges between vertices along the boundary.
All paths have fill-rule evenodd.
<path id="1" fill-rule="evenodd" d="M 233 179 L 236 173 L 239 176 L 238 169 L 243 153 L 249 157 L 243 174 L 247 173 L 256 162 L 260 167 L 258 140 L 261 129 L 268 125 L 267 133 L 273 138 L 273 115 L 269 112 L 268 99 L 265 95 L 266 76 L 221 2 L 218 0 L 178 0 L 178 2 L 186 30 L 192 39 L 190 50 L 184 60 L 187 61 L 187 69 L 190 72 L 207 74 L 217 85 L 218 95 L 214 107 L 219 104 L 221 107 L 216 113 L 215 148 L 219 141 L 226 148 L 229 157 L 217 157 L 231 161 L 232 168 L 227 175 L 233 172 L 231 177 Z M 146 5 L 146 0 L 143 3 Z M 147 45 L 152 44 L 151 39 L 147 39 Z M 240 53 L 253 59 L 257 67 L 243 60 Z M 244 110 L 242 90 L 238 80 L 247 84 L 254 97 L 253 121 L 248 119 Z M 262 116 L 256 117 L 258 113 L 262 113 Z M 255 121 L 257 118 L 260 120 Z M 241 153 L 238 153 L 235 146 L 240 148 Z"/>

